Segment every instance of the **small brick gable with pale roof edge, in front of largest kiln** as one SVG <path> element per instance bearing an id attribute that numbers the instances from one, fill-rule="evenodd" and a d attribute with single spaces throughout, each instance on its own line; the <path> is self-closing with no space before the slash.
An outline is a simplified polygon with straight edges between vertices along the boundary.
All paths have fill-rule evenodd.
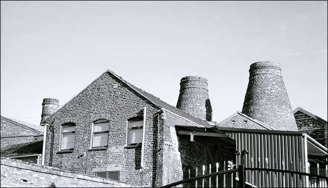
<path id="1" fill-rule="evenodd" d="M 239 116 L 239 117 L 238 117 Z M 245 119 L 249 119 L 251 120 L 250 122 L 237 122 L 235 124 L 231 124 L 230 122 L 228 123 L 228 120 L 233 118 L 233 117 L 237 117 L 237 118 L 245 118 Z M 253 119 L 239 111 L 236 111 L 235 113 L 233 113 L 232 115 L 230 115 L 229 117 L 227 117 L 226 119 L 222 120 L 221 122 L 216 124 L 217 127 L 229 127 L 229 128 L 240 128 L 240 129 L 254 129 L 254 125 L 259 126 L 261 129 L 265 129 L 265 130 L 275 130 L 274 128 L 268 126 L 266 123 L 261 122 L 257 119 Z"/>

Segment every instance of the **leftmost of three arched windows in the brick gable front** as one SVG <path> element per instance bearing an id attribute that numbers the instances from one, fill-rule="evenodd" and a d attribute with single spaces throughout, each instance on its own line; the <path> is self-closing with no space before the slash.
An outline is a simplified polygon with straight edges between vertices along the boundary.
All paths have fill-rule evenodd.
<path id="1" fill-rule="evenodd" d="M 65 123 L 61 131 L 60 150 L 73 150 L 75 140 L 75 123 Z"/>

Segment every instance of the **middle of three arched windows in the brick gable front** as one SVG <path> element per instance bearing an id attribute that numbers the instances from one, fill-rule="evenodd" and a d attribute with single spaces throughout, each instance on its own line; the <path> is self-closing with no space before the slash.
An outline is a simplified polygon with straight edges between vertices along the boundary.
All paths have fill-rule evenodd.
<path id="1" fill-rule="evenodd" d="M 109 121 L 107 119 L 99 119 L 94 122 L 94 133 L 92 137 L 93 148 L 107 147 L 108 129 L 109 129 Z"/>

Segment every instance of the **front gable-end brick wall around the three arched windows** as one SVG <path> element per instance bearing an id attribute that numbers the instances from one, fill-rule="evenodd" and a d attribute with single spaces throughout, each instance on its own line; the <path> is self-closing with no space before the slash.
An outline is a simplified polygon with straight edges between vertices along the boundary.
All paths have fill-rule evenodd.
<path id="1" fill-rule="evenodd" d="M 141 168 L 141 146 L 127 146 L 127 119 L 143 115 L 144 106 L 147 110 L 144 168 Z M 119 79 L 109 73 L 104 74 L 48 121 L 54 130 L 51 165 L 88 175 L 94 175 L 96 171 L 119 171 L 121 181 L 154 186 L 157 168 L 157 117 L 154 114 L 158 110 Z M 93 121 L 100 118 L 109 120 L 108 147 L 90 150 Z M 71 153 L 60 152 L 61 125 L 64 122 L 76 123 Z M 50 164 L 50 126 L 47 129 L 45 165 Z"/>

